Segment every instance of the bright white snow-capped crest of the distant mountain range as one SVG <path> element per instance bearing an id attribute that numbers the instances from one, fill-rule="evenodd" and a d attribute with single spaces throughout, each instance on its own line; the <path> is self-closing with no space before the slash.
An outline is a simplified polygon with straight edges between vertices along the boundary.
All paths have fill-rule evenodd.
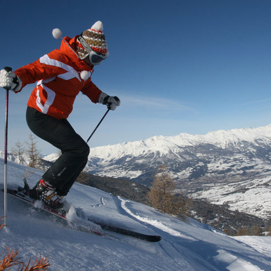
<path id="1" fill-rule="evenodd" d="M 100 159 L 108 159 L 113 156 L 117 157 L 123 152 L 137 156 L 139 154 L 139 150 L 143 150 L 143 152 L 150 150 L 160 151 L 161 154 L 164 154 L 166 151 L 170 150 L 170 147 L 174 149 L 174 146 L 187 147 L 203 143 L 213 144 L 225 149 L 229 144 L 236 145 L 237 142 L 240 141 L 255 142 L 256 144 L 259 144 L 260 142 L 257 142 L 258 140 L 261 140 L 262 143 L 271 142 L 271 124 L 258 128 L 248 127 L 211 131 L 205 135 L 190 135 L 187 133 L 181 133 L 174 136 L 155 135 L 144 140 L 141 139 L 132 142 L 129 141 L 114 145 L 93 147 L 91 148 L 90 156 L 99 157 Z M 162 142 L 167 142 L 167 144 L 163 144 Z M 133 148 L 133 146 L 135 147 Z M 52 159 L 52 154 L 45 156 L 45 159 Z"/>

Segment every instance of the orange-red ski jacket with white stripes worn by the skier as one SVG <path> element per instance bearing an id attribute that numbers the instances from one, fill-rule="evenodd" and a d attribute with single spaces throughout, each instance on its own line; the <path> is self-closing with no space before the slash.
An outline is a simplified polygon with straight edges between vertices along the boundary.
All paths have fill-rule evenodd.
<path id="1" fill-rule="evenodd" d="M 65 37 L 74 51 L 77 37 Z M 86 81 L 80 77 L 83 70 L 89 77 L 82 76 Z M 95 103 L 102 93 L 91 81 L 92 68 L 80 60 L 64 41 L 60 49 L 14 72 L 21 78 L 22 88 L 37 81 L 27 105 L 57 119 L 68 118 L 80 91 Z"/>

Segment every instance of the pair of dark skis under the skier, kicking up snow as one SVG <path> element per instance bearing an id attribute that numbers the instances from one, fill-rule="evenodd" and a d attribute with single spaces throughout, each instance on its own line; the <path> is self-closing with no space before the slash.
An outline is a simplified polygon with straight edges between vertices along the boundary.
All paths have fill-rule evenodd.
<path id="1" fill-rule="evenodd" d="M 26 203 L 29 203 L 31 205 L 33 205 L 35 207 L 35 201 L 32 200 L 28 195 L 29 195 L 29 185 L 27 183 L 27 180 L 24 178 L 24 187 L 18 187 L 17 190 L 14 189 L 7 189 L 7 193 L 17 199 L 20 199 Z M 4 192 L 4 189 L 0 188 L 0 190 L 2 192 Z M 63 220 L 66 220 L 68 222 L 68 224 L 70 224 L 70 226 L 72 226 L 73 229 L 79 230 L 79 231 L 83 231 L 83 232 L 90 232 L 90 233 L 94 233 L 100 236 L 109 236 L 106 233 L 104 233 L 103 231 L 99 231 L 97 229 L 92 229 L 91 227 L 88 227 L 87 224 L 85 225 L 77 225 L 76 222 L 70 222 L 68 221 L 66 215 L 68 213 L 67 210 L 63 209 L 58 209 L 58 210 L 53 210 L 51 209 L 49 206 L 46 205 L 42 205 L 41 207 L 39 206 L 38 208 L 40 208 L 41 210 L 44 210 L 50 214 L 53 214 Z M 80 208 L 74 207 L 75 211 L 76 211 L 76 215 L 78 216 L 78 218 L 80 219 Z M 85 215 L 83 215 L 85 216 Z M 114 232 L 114 233 L 118 233 L 118 234 L 122 234 L 122 235 L 126 235 L 129 237 L 134 237 L 140 240 L 144 240 L 144 241 L 148 241 L 148 242 L 158 242 L 162 239 L 161 236 L 156 236 L 156 235 L 147 235 L 147 234 L 142 234 L 142 233 L 138 233 L 135 232 L 133 230 L 128 230 L 119 226 L 114 226 L 114 225 L 110 225 L 101 221 L 96 220 L 95 218 L 92 217 L 88 217 L 86 216 L 86 221 L 81 221 L 78 220 L 78 222 L 80 223 L 84 223 L 84 222 L 91 222 L 94 223 L 98 226 L 101 227 L 102 230 L 104 231 L 109 231 L 109 232 Z M 112 237 L 112 236 L 110 236 Z"/>

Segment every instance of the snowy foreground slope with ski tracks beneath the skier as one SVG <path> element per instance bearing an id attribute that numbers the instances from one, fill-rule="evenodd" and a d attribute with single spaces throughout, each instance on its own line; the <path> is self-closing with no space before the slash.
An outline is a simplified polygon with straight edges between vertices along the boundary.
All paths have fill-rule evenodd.
<path id="1" fill-rule="evenodd" d="M 25 166 L 8 162 L 8 185 L 22 184 Z M 31 186 L 42 175 L 29 175 Z M 0 186 L 3 160 L 0 159 Z M 0 192 L 0 216 L 3 215 Z M 270 271 L 271 237 L 229 237 L 192 219 L 181 221 L 155 209 L 96 188 L 75 183 L 66 197 L 89 216 L 142 233 L 162 236 L 158 243 L 112 234 L 100 237 L 70 229 L 27 203 L 8 196 L 8 227 L 0 230 L 0 253 L 5 246 L 29 257 L 49 257 L 52 271 Z"/>

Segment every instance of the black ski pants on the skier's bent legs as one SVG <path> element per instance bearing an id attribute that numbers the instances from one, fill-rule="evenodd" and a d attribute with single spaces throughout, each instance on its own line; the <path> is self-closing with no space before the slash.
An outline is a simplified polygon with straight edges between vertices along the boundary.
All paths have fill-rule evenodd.
<path id="1" fill-rule="evenodd" d="M 26 120 L 35 135 L 61 150 L 62 155 L 42 178 L 56 187 L 60 196 L 66 196 L 87 164 L 88 144 L 75 133 L 67 119 L 56 119 L 28 106 Z"/>

